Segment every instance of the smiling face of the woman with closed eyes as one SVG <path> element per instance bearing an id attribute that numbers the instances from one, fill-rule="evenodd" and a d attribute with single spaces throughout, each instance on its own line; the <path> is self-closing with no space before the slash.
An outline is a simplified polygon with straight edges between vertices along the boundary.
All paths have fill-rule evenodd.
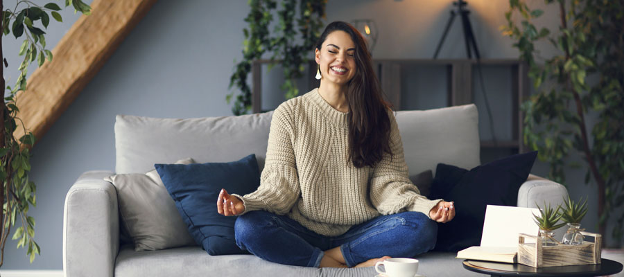
<path id="1" fill-rule="evenodd" d="M 347 84 L 356 73 L 355 44 L 349 34 L 335 30 L 327 35 L 321 49 L 316 49 L 316 62 L 320 65 L 321 82 Z"/>

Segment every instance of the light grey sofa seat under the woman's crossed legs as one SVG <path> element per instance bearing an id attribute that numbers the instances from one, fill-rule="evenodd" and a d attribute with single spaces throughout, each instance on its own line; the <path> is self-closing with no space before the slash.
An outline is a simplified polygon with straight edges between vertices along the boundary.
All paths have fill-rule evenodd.
<path id="1" fill-rule="evenodd" d="M 416 256 L 422 276 L 483 276 L 462 267 L 455 252 L 429 252 Z M 180 274 L 183 272 L 183 274 Z M 377 273 L 374 267 L 297 267 L 267 262 L 252 255 L 209 256 L 200 247 L 135 252 L 123 248 L 115 260 L 115 277 L 203 276 L 361 276 Z"/>

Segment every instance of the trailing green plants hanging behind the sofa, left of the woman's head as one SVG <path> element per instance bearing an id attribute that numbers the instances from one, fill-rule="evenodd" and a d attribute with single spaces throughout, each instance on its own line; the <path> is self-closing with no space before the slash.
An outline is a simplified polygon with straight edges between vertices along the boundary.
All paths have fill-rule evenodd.
<path id="1" fill-rule="evenodd" d="M 299 3 L 299 18 L 296 18 L 297 2 Z M 275 0 L 250 0 L 251 11 L 245 22 L 249 27 L 243 29 L 243 60 L 236 64 L 232 77 L 229 78 L 229 88 L 233 86 L 240 90 L 234 100 L 232 113 L 235 115 L 247 114 L 252 107 L 252 93 L 247 84 L 247 77 L 252 70 L 254 60 L 261 59 L 264 53 L 272 53 L 271 65 L 280 64 L 284 68 L 284 84 L 281 89 L 286 91 L 286 99 L 299 94 L 295 84 L 296 78 L 301 78 L 304 64 L 309 61 L 314 44 L 320 37 L 323 26 L 321 21 L 325 17 L 327 0 L 282 0 L 281 10 L 277 11 L 279 22 L 273 33 L 269 25 L 273 20 L 272 11 L 277 8 Z M 234 92 L 227 95 L 229 103 Z"/>

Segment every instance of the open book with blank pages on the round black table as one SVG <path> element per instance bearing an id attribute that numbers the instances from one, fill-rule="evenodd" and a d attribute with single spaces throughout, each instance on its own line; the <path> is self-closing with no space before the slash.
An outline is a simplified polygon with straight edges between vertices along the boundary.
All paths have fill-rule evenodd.
<path id="1" fill-rule="evenodd" d="M 533 213 L 539 215 L 539 210 L 487 205 L 480 246 L 459 251 L 456 258 L 516 263 L 519 233 L 539 233 Z"/>

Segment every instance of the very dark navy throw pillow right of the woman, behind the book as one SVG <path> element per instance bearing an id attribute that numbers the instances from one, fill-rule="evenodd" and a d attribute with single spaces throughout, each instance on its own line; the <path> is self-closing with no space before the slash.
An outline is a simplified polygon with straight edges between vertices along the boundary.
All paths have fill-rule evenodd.
<path id="1" fill-rule="evenodd" d="M 486 206 L 516 206 L 518 190 L 536 157 L 537 151 L 516 154 L 471 170 L 438 164 L 432 195 L 455 202 L 456 215 L 450 222 L 438 224 L 435 249 L 460 251 L 479 245 Z"/>

